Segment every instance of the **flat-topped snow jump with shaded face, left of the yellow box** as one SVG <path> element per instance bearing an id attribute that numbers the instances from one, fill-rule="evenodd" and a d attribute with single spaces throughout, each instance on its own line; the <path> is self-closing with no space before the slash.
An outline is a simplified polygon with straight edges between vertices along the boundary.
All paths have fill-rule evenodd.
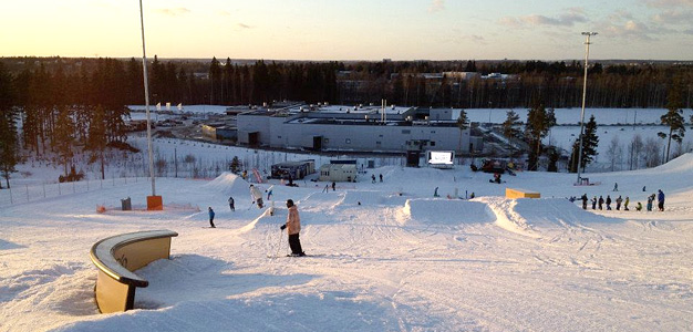
<path id="1" fill-rule="evenodd" d="M 484 224 L 496 219 L 486 204 L 459 199 L 407 199 L 402 212 L 406 219 L 423 224 Z"/>

